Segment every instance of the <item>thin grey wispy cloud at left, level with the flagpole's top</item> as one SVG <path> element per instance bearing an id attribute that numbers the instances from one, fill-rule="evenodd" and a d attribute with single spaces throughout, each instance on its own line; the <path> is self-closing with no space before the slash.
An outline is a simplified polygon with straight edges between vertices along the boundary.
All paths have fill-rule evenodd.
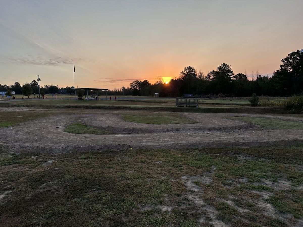
<path id="1" fill-rule="evenodd" d="M 33 65 L 59 65 L 59 64 L 74 64 L 74 63 L 86 63 L 97 62 L 88 58 L 69 58 L 69 57 L 12 57 L 12 56 L 0 56 L 0 61 L 3 63 L 15 63 L 15 64 L 33 64 Z"/>

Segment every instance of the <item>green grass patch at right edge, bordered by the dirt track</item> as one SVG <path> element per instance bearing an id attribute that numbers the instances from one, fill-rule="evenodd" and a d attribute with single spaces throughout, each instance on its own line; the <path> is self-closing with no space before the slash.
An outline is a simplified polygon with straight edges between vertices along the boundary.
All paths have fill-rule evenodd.
<path id="1" fill-rule="evenodd" d="M 270 129 L 303 129 L 303 122 L 293 122 L 286 120 L 277 120 L 261 117 L 226 117 L 232 120 L 241 120 L 248 123 L 260 125 L 263 128 Z"/>

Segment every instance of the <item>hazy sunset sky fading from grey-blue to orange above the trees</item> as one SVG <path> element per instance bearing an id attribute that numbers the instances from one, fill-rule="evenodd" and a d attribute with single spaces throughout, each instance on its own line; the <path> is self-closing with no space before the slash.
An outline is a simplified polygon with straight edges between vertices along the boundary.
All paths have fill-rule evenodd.
<path id="1" fill-rule="evenodd" d="M 0 84 L 121 88 L 188 65 L 271 75 L 303 49 L 302 0 L 0 0 Z"/>

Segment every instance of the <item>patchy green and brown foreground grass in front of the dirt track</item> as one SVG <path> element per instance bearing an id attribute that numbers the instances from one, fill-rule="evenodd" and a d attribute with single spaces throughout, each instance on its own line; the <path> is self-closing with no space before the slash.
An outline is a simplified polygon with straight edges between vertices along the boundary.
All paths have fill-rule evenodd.
<path id="1" fill-rule="evenodd" d="M 255 187 L 254 183 L 286 178 L 293 186 L 303 184 L 303 173 L 296 166 L 303 164 L 302 152 L 303 146 L 298 145 L 57 155 L 2 153 L 0 195 L 6 194 L 0 202 L 0 223 L 211 226 L 207 208 L 188 199 L 197 192 L 187 189 L 181 178 L 208 174 L 211 183 L 194 183 L 201 192 L 199 198 L 217 212 L 217 219 L 231 226 L 285 226 L 281 215 L 293 216 L 295 221 L 303 217 L 302 190 L 275 190 Z M 241 160 L 238 154 L 251 155 L 251 160 Z M 49 160 L 53 161 L 45 165 Z M 241 177 L 247 182 L 239 183 Z M 255 191 L 272 196 L 264 200 Z M 272 204 L 281 215 L 276 218 L 268 214 L 263 206 L 256 205 L 260 200 Z M 161 206 L 171 209 L 161 210 Z M 238 207 L 249 211 L 241 213 Z"/>

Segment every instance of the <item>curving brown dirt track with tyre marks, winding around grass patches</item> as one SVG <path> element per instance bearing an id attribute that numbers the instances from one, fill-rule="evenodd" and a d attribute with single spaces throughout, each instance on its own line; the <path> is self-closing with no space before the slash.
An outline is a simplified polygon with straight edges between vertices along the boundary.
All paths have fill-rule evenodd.
<path id="1" fill-rule="evenodd" d="M 138 148 L 189 148 L 200 146 L 256 146 L 303 142 L 303 130 L 265 130 L 226 116 L 258 116 L 290 121 L 296 117 L 235 114 L 179 113 L 196 124 L 151 125 L 132 123 L 116 114 L 59 114 L 0 129 L 0 150 L 14 153 L 65 153 L 71 151 Z M 111 130 L 112 135 L 63 132 L 70 123 L 85 123 Z"/>

